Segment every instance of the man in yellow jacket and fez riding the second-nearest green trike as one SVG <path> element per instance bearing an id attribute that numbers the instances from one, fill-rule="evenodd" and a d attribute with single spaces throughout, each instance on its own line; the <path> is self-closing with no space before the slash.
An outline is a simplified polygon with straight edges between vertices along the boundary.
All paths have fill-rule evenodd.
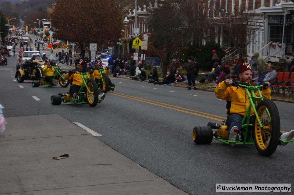
<path id="1" fill-rule="evenodd" d="M 76 66 L 76 71 L 78 72 L 85 72 L 84 68 L 85 67 L 85 60 L 81 59 L 77 66 Z M 69 93 L 71 94 L 72 99 L 78 99 L 78 91 L 81 88 L 81 85 L 83 84 L 83 79 L 81 74 L 78 72 L 74 72 L 73 70 L 70 70 L 64 77 L 65 80 L 70 81 L 70 87 L 69 87 Z M 87 77 L 90 79 L 95 79 L 93 70 L 90 70 L 89 73 L 87 74 Z M 83 84 L 83 92 L 86 92 L 86 86 Z M 103 93 L 102 95 L 99 95 L 99 99 L 103 99 L 105 94 Z"/>

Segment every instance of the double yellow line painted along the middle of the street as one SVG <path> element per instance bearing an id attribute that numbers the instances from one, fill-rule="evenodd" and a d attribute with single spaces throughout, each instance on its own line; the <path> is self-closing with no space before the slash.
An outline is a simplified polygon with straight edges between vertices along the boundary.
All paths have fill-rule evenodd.
<path id="1" fill-rule="evenodd" d="M 205 117 L 205 118 L 210 118 L 210 119 L 213 119 L 213 120 L 216 120 L 216 121 L 223 121 L 223 120 L 226 119 L 226 117 L 223 117 L 223 116 L 218 116 L 218 115 L 214 115 L 214 114 L 210 114 L 210 113 L 200 112 L 200 111 L 196 111 L 196 110 L 192 110 L 192 109 L 188 109 L 188 108 L 183 108 L 183 107 L 180 107 L 180 106 L 174 106 L 174 105 L 171 105 L 171 104 L 165 104 L 165 103 L 162 103 L 162 102 L 152 101 L 152 100 L 139 98 L 139 97 L 135 97 L 135 96 L 129 96 L 129 95 L 117 93 L 117 92 L 114 92 L 114 91 L 111 91 L 111 92 L 108 92 L 108 93 L 112 94 L 112 95 L 128 98 L 128 99 L 144 102 L 144 103 L 147 103 L 147 104 L 152 104 L 152 105 L 161 106 L 161 107 L 164 107 L 164 108 L 169 108 L 169 109 L 172 109 L 172 110 L 176 110 L 176 111 L 180 111 L 180 112 L 184 112 L 184 113 L 188 113 L 188 114 L 193 114 L 193 115 L 196 115 L 196 116 L 202 116 L 202 117 Z"/>

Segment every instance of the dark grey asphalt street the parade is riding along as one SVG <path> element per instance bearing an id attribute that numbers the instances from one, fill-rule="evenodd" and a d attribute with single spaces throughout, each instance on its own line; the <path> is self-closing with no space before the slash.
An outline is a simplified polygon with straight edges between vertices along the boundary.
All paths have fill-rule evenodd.
<path id="1" fill-rule="evenodd" d="M 209 145 L 194 144 L 194 126 L 226 117 L 225 101 L 211 92 L 111 78 L 115 90 L 94 108 L 88 104 L 54 106 L 50 96 L 69 87 L 33 88 L 29 81 L 18 83 L 14 62 L 16 57 L 9 57 L 9 65 L 0 67 L 5 117 L 60 114 L 101 134 L 97 139 L 189 194 L 215 194 L 216 183 L 294 182 L 293 143 L 278 146 L 271 157 L 259 155 L 252 145 L 231 147 L 216 140 Z M 281 130 L 293 129 L 294 105 L 275 104 Z"/>

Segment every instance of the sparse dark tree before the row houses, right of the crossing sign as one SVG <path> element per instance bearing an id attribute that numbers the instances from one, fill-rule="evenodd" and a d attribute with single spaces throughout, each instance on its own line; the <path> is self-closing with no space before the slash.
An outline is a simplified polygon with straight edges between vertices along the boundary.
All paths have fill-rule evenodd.
<path id="1" fill-rule="evenodd" d="M 194 0 L 167 0 L 154 10 L 151 20 L 151 52 L 162 59 L 163 72 L 172 58 L 196 38 L 203 38 L 203 30 L 211 26 L 202 4 Z"/>

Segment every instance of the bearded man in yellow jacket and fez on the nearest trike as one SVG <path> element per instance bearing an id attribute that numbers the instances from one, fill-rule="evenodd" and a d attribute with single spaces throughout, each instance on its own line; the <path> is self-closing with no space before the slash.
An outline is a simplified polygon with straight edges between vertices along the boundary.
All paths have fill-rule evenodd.
<path id="1" fill-rule="evenodd" d="M 252 83 L 252 71 L 251 65 L 247 62 L 240 64 L 239 66 L 239 77 L 240 82 L 244 85 L 253 85 Z M 219 99 L 224 99 L 227 101 L 227 125 L 229 130 L 229 140 L 236 141 L 239 130 L 241 128 L 241 123 L 245 113 L 247 111 L 248 106 L 250 105 L 250 100 L 245 92 L 245 89 L 239 87 L 232 87 L 233 81 L 230 79 L 226 79 L 225 81 L 218 84 L 215 89 L 215 94 Z M 269 82 L 265 82 L 270 86 Z M 271 99 L 270 97 L 270 89 L 265 87 L 262 89 L 261 94 L 266 99 Z M 259 97 L 257 91 L 255 91 L 255 96 Z M 250 123 L 254 123 L 254 111 L 251 108 L 250 113 Z M 291 140 L 294 137 L 294 130 L 286 133 L 280 133 L 280 138 L 282 140 Z M 282 145 L 286 145 L 287 143 L 280 143 Z M 236 145 L 235 143 L 230 143 L 230 145 Z"/>

